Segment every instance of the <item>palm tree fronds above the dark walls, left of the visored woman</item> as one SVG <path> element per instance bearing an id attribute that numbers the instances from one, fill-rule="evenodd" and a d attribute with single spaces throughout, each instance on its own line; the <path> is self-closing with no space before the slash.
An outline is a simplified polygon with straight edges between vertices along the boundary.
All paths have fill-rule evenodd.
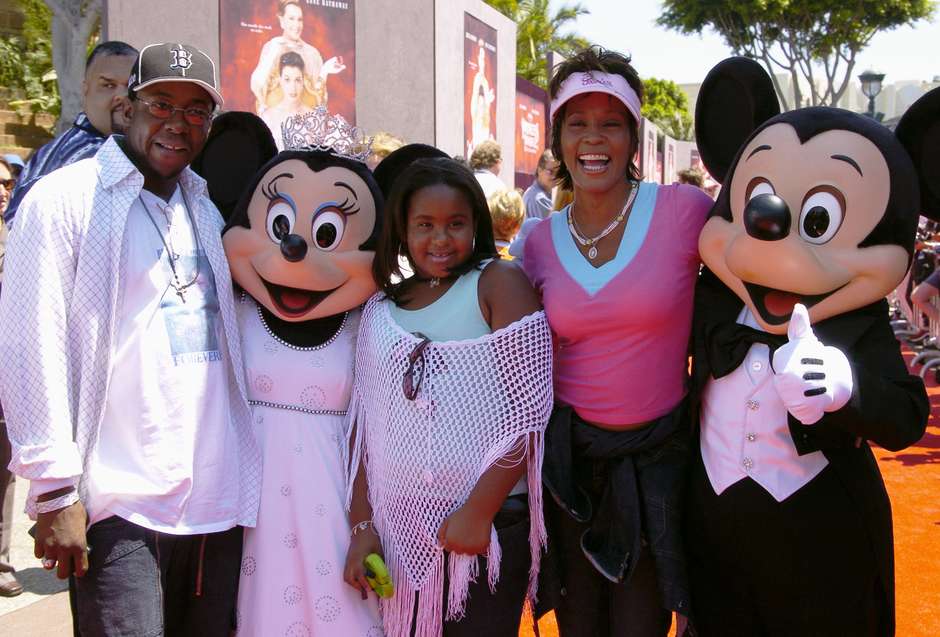
<path id="1" fill-rule="evenodd" d="M 549 51 L 570 56 L 588 46 L 583 37 L 562 30 L 588 13 L 580 2 L 562 5 L 554 14 L 549 0 L 486 0 L 516 23 L 516 73 L 548 88 L 545 60 Z"/>

